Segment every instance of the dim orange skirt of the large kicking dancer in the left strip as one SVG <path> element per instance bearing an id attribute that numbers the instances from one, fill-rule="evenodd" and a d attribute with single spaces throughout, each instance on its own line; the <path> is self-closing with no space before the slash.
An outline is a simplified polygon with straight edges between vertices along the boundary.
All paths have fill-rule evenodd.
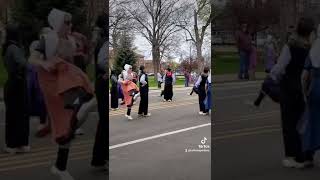
<path id="1" fill-rule="evenodd" d="M 63 93 L 71 88 L 81 87 L 93 94 L 93 87 L 88 77 L 76 66 L 61 61 L 54 71 L 38 68 L 38 79 L 44 95 L 45 104 L 51 121 L 55 141 L 69 138 L 74 110 L 66 109 Z"/>

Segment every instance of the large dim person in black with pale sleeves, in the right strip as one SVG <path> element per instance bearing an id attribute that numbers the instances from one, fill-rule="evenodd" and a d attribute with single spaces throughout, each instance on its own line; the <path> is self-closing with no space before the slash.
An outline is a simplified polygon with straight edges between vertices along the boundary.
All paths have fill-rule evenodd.
<path id="1" fill-rule="evenodd" d="M 312 164 L 310 154 L 302 151 L 301 137 L 297 130 L 305 110 L 301 75 L 308 57 L 314 31 L 314 22 L 309 18 L 299 20 L 296 32 L 284 45 L 277 64 L 270 76 L 280 85 L 280 108 L 284 140 L 284 167 L 304 168 Z M 312 152 L 311 152 L 312 153 Z"/>

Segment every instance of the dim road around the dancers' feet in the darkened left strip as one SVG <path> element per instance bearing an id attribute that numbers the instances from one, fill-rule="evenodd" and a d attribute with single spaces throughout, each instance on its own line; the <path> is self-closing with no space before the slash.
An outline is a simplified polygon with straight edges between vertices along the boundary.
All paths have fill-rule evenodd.
<path id="1" fill-rule="evenodd" d="M 0 104 L 0 148 L 4 145 L 4 106 Z M 71 147 L 68 170 L 76 180 L 106 180 L 106 172 L 97 171 L 90 166 L 94 135 L 97 126 L 97 113 L 90 114 L 83 129 L 85 134 L 78 136 Z M 51 137 L 35 138 L 34 133 L 39 120 L 31 120 L 31 153 L 8 155 L 0 151 L 1 180 L 58 180 L 49 171 L 56 158 L 57 147 Z"/>

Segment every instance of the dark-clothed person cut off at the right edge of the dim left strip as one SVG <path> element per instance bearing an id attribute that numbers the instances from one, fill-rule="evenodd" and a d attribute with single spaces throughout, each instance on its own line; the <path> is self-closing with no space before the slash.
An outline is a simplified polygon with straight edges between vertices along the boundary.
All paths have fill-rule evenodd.
<path id="1" fill-rule="evenodd" d="M 98 101 L 99 124 L 97 128 L 91 165 L 108 170 L 109 164 L 109 123 L 108 123 L 108 16 L 99 16 L 97 27 L 101 29 L 100 38 L 95 49 L 96 96 Z"/>

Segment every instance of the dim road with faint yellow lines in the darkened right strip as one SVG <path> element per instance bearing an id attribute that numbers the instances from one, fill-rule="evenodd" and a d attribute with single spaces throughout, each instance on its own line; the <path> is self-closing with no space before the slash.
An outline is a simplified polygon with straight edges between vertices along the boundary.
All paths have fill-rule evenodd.
<path id="1" fill-rule="evenodd" d="M 319 179 L 318 162 L 315 168 L 306 170 L 281 166 L 284 152 L 279 106 L 269 99 L 260 108 L 251 105 L 260 84 L 214 85 L 213 179 Z"/>

